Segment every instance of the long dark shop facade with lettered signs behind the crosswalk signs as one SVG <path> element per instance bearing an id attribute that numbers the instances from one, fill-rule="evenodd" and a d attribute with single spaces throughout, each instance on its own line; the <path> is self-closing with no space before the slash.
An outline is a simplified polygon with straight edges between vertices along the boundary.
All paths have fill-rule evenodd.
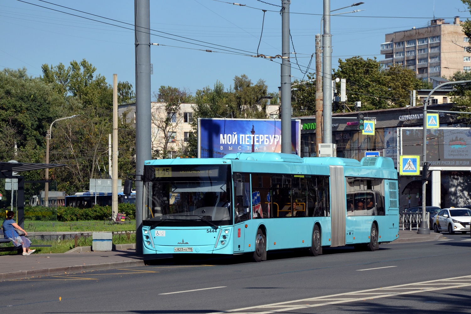
<path id="1" fill-rule="evenodd" d="M 453 104 L 429 105 L 427 108 L 456 111 Z M 365 152 L 380 152 L 381 156 L 392 158 L 398 167 L 400 154 L 422 155 L 423 106 L 362 111 L 361 113 L 364 114 L 365 120 L 375 121 L 374 135 L 363 135 L 358 129 L 358 112 L 333 114 L 332 139 L 333 144 L 336 145 L 337 157 L 361 160 L 365 157 Z M 301 157 L 315 157 L 316 118 L 315 116 L 299 118 L 301 119 L 300 155 Z M 440 129 L 428 130 L 427 161 L 431 161 L 432 166 L 427 182 L 427 206 L 445 208 L 471 204 L 471 157 L 464 156 L 471 155 L 471 131 L 467 129 L 470 125 L 457 124 L 456 121 L 456 114 L 440 112 Z M 444 132 L 445 136 L 443 136 Z M 459 144 L 455 146 L 460 147 L 457 149 L 459 153 L 455 153 L 456 156 L 452 156 L 453 153 L 450 152 L 455 151 L 448 148 L 455 147 L 451 144 L 456 144 L 455 140 L 450 139 L 449 134 L 452 133 L 453 138 L 456 133 L 456 141 Z M 407 208 L 422 205 L 422 177 L 398 175 L 398 178 L 399 206 Z"/>

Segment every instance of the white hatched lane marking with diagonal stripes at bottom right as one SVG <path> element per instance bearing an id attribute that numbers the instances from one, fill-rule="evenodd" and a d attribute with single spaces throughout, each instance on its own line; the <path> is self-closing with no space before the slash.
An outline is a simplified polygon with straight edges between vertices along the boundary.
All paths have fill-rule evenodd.
<path id="1" fill-rule="evenodd" d="M 278 303 L 272 303 L 272 304 L 265 304 L 261 306 L 250 306 L 250 307 L 244 307 L 244 308 L 238 308 L 238 309 L 233 309 L 233 310 L 226 310 L 226 311 L 221 311 L 221 312 L 213 312 L 210 314 L 224 314 L 224 313 L 237 313 L 237 314 L 242 314 L 241 312 L 243 311 L 244 314 L 250 313 L 250 314 L 271 314 L 271 313 L 279 313 L 279 312 L 284 312 L 284 311 L 293 311 L 293 310 L 298 310 L 298 309 L 305 309 L 305 308 L 311 308 L 311 307 L 317 307 L 317 306 L 326 306 L 326 305 L 333 305 L 333 304 L 341 304 L 341 303 L 347 303 L 347 302 L 354 302 L 354 301 L 363 301 L 365 300 L 365 297 L 361 298 L 339 298 L 339 297 L 348 297 L 353 294 L 361 294 L 365 292 L 373 292 L 373 291 L 384 291 L 382 294 L 373 296 L 370 295 L 367 298 L 369 299 L 377 299 L 377 298 L 387 298 L 387 297 L 394 297 L 394 296 L 399 296 L 399 295 L 407 295 L 407 294 L 414 294 L 414 293 L 421 293 L 421 292 L 429 292 L 429 291 L 435 291 L 435 290 L 445 290 L 445 289 L 455 289 L 455 288 L 463 288 L 463 287 L 469 287 L 471 286 L 471 282 L 466 282 L 466 283 L 461 283 L 461 284 L 455 284 L 455 282 L 450 282 L 448 286 L 441 286 L 441 287 L 414 287 L 414 288 L 408 288 L 407 286 L 411 285 L 420 285 L 420 284 L 429 284 L 432 282 L 436 282 L 437 284 L 439 282 L 444 282 L 444 281 L 451 281 L 451 280 L 457 280 L 457 281 L 462 281 L 462 280 L 469 280 L 471 279 L 471 275 L 467 276 L 460 276 L 460 277 L 452 277 L 452 278 L 444 278 L 444 279 L 439 279 L 439 280 L 430 280 L 426 282 L 414 282 L 414 283 L 407 283 L 407 284 L 401 284 L 397 286 L 390 286 L 390 287 L 384 287 L 384 288 L 376 288 L 376 289 L 368 289 L 368 290 L 360 290 L 360 291 L 352 291 L 352 292 L 346 292 L 346 293 L 339 293 L 339 294 L 333 294 L 333 295 L 328 295 L 328 296 L 322 296 L 322 297 L 315 297 L 315 298 L 305 298 L 305 299 L 299 299 L 299 300 L 292 300 L 292 301 L 285 301 L 285 302 L 278 302 Z M 388 290 L 402 290 L 402 291 L 388 291 Z M 409 291 L 406 291 L 409 290 Z M 325 302 L 326 300 L 332 300 L 330 302 Z M 300 304 L 298 306 L 292 306 L 293 303 L 300 303 L 303 302 L 304 304 Z M 307 302 L 313 302 L 315 304 L 306 304 Z M 320 303 L 316 303 L 320 302 Z M 281 306 L 281 305 L 284 305 Z M 260 311 L 257 309 L 265 309 L 267 307 L 279 307 L 277 309 L 269 310 L 269 311 Z M 249 312 L 247 312 L 249 311 Z"/>

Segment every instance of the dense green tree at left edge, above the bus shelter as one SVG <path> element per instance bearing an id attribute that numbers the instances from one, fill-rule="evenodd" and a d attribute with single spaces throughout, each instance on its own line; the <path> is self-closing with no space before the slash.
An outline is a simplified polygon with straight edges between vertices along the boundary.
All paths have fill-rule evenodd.
<path id="1" fill-rule="evenodd" d="M 44 162 L 46 132 L 63 97 L 26 69 L 0 72 L 0 160 Z"/>

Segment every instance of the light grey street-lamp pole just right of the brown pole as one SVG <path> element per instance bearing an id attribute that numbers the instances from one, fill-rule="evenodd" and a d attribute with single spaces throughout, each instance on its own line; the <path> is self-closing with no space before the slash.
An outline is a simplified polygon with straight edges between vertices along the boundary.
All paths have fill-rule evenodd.
<path id="1" fill-rule="evenodd" d="M 330 33 L 330 0 L 324 0 L 324 34 L 322 35 L 322 92 L 324 143 L 332 144 L 332 35 Z"/>

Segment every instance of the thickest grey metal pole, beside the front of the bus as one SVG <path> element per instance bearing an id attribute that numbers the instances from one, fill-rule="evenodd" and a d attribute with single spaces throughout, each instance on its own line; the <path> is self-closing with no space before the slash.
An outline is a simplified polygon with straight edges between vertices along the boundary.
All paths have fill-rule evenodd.
<path id="1" fill-rule="evenodd" d="M 136 178 L 144 174 L 144 161 L 152 159 L 150 106 L 150 3 L 134 0 L 136 45 Z M 142 181 L 136 181 L 136 253 L 142 254 Z"/>

